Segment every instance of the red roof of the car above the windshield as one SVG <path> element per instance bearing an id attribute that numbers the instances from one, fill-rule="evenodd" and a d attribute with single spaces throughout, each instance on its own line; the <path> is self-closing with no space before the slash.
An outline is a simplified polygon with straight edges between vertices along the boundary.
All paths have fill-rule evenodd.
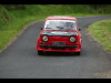
<path id="1" fill-rule="evenodd" d="M 48 17 L 46 20 L 75 20 L 77 21 L 77 18 L 74 17 L 63 17 L 63 15 L 51 15 L 51 17 Z"/>

